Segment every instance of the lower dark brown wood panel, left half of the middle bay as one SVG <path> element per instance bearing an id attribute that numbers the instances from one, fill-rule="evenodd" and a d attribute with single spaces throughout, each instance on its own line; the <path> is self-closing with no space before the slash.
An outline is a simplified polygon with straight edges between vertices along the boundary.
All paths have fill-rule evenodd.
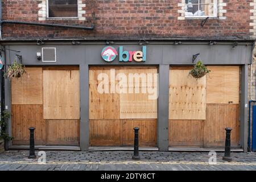
<path id="1" fill-rule="evenodd" d="M 90 119 L 90 146 L 121 146 L 122 121 Z"/>

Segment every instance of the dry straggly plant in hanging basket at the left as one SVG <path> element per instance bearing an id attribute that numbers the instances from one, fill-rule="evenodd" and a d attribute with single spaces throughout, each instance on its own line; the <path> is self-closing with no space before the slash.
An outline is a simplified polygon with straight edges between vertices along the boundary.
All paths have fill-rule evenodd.
<path id="1" fill-rule="evenodd" d="M 15 59 L 13 64 L 9 65 L 5 76 L 9 77 L 10 79 L 11 77 L 20 78 L 24 73 L 27 73 L 25 66 L 21 63 L 18 63 L 18 61 Z"/>

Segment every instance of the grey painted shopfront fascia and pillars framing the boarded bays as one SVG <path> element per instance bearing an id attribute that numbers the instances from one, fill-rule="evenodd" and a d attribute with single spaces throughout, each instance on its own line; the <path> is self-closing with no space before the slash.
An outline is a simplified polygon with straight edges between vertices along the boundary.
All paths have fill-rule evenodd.
<path id="1" fill-rule="evenodd" d="M 72 41 L 72 40 L 71 40 Z M 241 146 L 247 151 L 247 85 L 248 64 L 251 64 L 253 42 L 219 42 L 209 46 L 209 42 L 174 42 L 152 41 L 147 44 L 146 62 L 119 63 L 118 58 L 107 63 L 101 58 L 105 42 L 82 42 L 79 46 L 72 46 L 70 42 L 46 42 L 37 46 L 36 42 L 6 42 L 6 64 L 11 64 L 15 52 L 22 55 L 24 65 L 79 65 L 80 67 L 80 147 L 89 147 L 89 65 L 156 65 L 159 68 L 159 98 L 158 98 L 158 147 L 160 151 L 168 151 L 168 95 L 170 65 L 192 65 L 192 55 L 200 52 L 201 60 L 206 65 L 241 65 Z M 124 50 L 141 50 L 138 42 L 116 42 L 110 45 L 115 48 L 123 46 Z M 42 63 L 36 59 L 36 52 L 42 47 L 56 47 L 56 63 Z M 9 79 L 5 79 L 5 105 L 11 111 L 11 89 Z M 11 134 L 11 119 L 9 134 Z M 11 143 L 9 143 L 10 145 Z"/>

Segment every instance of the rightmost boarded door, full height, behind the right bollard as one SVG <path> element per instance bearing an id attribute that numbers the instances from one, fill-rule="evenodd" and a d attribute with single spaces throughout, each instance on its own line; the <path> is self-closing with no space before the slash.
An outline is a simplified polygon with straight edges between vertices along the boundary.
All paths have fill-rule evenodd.
<path id="1" fill-rule="evenodd" d="M 207 118 L 204 123 L 204 146 L 224 147 L 225 128 L 231 127 L 232 147 L 239 147 L 240 67 L 209 66 L 207 75 Z"/>

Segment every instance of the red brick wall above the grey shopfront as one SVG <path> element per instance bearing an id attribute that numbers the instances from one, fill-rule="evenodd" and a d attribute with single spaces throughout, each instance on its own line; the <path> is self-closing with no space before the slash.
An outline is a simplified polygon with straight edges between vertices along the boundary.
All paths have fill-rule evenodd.
<path id="1" fill-rule="evenodd" d="M 3 19 L 38 21 L 35 0 L 3 0 Z M 46 20 L 42 23 L 64 23 L 90 26 L 95 30 L 67 30 L 64 28 L 3 25 L 3 37 L 18 36 L 249 36 L 250 2 L 252 0 L 224 0 L 226 20 L 209 19 L 201 29 L 199 19 L 177 20 L 177 6 L 181 0 L 84 0 L 85 21 Z"/>

